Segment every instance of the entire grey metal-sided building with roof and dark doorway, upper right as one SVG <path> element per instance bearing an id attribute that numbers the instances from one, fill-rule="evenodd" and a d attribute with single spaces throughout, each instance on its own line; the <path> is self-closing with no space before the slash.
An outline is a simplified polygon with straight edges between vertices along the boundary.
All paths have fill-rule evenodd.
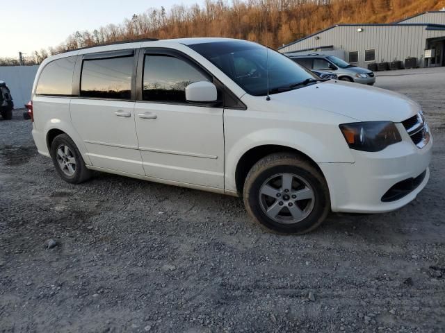
<path id="1" fill-rule="evenodd" d="M 407 20 L 434 19 L 442 24 L 406 23 Z M 338 24 L 282 46 L 282 53 L 311 53 L 344 51 L 344 59 L 354 65 L 367 67 L 372 62 L 393 62 L 417 58 L 419 67 L 444 66 L 445 11 L 426 12 L 396 24 Z M 435 58 L 425 60 L 425 50 L 434 48 Z M 374 53 L 365 61 L 365 51 Z M 358 57 L 357 57 L 358 53 Z M 371 56 L 369 54 L 369 56 Z M 354 59 L 355 60 L 355 59 Z"/>

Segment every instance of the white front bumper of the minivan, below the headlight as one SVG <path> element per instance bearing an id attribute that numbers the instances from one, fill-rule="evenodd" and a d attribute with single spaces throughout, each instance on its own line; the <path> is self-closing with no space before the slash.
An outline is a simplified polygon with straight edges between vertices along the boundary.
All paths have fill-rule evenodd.
<path id="1" fill-rule="evenodd" d="M 319 163 L 330 190 L 333 212 L 383 213 L 397 210 L 416 198 L 430 178 L 428 165 L 432 137 L 417 148 L 409 137 L 383 151 L 369 153 L 351 150 L 354 163 Z M 398 200 L 383 202 L 384 196 L 398 182 L 416 178 L 426 171 L 423 180 Z"/>

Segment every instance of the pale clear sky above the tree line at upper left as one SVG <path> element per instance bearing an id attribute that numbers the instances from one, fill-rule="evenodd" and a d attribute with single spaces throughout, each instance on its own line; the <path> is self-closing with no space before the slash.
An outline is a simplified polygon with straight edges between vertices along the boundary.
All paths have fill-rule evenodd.
<path id="1" fill-rule="evenodd" d="M 94 30 L 106 24 L 121 23 L 124 18 L 148 8 L 203 0 L 8 0 L 1 7 L 0 58 L 18 58 L 19 51 L 31 54 L 65 42 L 75 31 Z"/>

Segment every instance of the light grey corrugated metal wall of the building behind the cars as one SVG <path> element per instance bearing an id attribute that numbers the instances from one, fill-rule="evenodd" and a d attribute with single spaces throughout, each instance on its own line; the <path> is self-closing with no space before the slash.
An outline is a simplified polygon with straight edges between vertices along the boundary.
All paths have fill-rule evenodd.
<path id="1" fill-rule="evenodd" d="M 362 28 L 363 31 L 357 32 L 357 28 Z M 445 31 L 426 31 L 426 26 L 335 26 L 279 51 L 284 53 L 333 45 L 334 49 L 346 51 L 346 61 L 349 52 L 358 51 L 359 62 L 355 65 L 367 67 L 370 62 L 364 61 L 364 51 L 374 49 L 375 62 L 403 61 L 408 57 L 416 57 L 419 59 L 419 66 L 423 67 L 426 38 L 441 36 L 445 37 Z"/>

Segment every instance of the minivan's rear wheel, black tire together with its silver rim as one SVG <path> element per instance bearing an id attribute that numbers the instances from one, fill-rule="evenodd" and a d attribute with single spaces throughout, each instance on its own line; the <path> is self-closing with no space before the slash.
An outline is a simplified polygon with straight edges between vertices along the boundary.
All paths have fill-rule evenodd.
<path id="1" fill-rule="evenodd" d="M 90 178 L 91 171 L 86 168 L 81 153 L 68 135 L 60 134 L 54 138 L 51 157 L 57 173 L 65 182 L 79 184 Z"/>

